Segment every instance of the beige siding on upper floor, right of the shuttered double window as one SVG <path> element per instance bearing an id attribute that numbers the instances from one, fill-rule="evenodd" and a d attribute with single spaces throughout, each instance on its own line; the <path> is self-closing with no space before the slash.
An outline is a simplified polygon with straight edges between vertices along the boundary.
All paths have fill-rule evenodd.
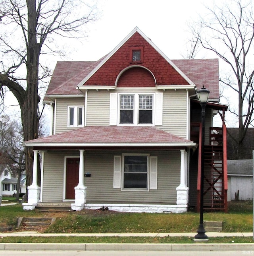
<path id="1" fill-rule="evenodd" d="M 163 126 L 159 128 L 186 138 L 187 100 L 186 90 L 166 90 L 163 93 Z"/>

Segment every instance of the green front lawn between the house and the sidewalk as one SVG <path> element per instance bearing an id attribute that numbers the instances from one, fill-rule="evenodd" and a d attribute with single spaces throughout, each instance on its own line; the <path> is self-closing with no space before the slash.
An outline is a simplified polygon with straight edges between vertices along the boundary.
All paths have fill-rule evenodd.
<path id="1" fill-rule="evenodd" d="M 56 217 L 44 233 L 179 233 L 196 232 L 199 213 L 119 213 L 114 211 L 71 211 L 43 213 L 23 211 L 22 205 L 0 207 L 0 225 L 12 225 L 17 217 Z M 232 202 L 229 212 L 204 213 L 204 220 L 223 221 L 223 232 L 252 232 L 252 202 Z"/>

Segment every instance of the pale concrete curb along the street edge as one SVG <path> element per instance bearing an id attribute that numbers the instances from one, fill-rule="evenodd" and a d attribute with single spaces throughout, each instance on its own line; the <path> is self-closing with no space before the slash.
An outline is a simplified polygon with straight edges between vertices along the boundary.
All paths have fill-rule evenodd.
<path id="1" fill-rule="evenodd" d="M 81 250 L 81 251 L 254 251 L 251 244 L 43 244 L 2 243 L 0 250 Z"/>

